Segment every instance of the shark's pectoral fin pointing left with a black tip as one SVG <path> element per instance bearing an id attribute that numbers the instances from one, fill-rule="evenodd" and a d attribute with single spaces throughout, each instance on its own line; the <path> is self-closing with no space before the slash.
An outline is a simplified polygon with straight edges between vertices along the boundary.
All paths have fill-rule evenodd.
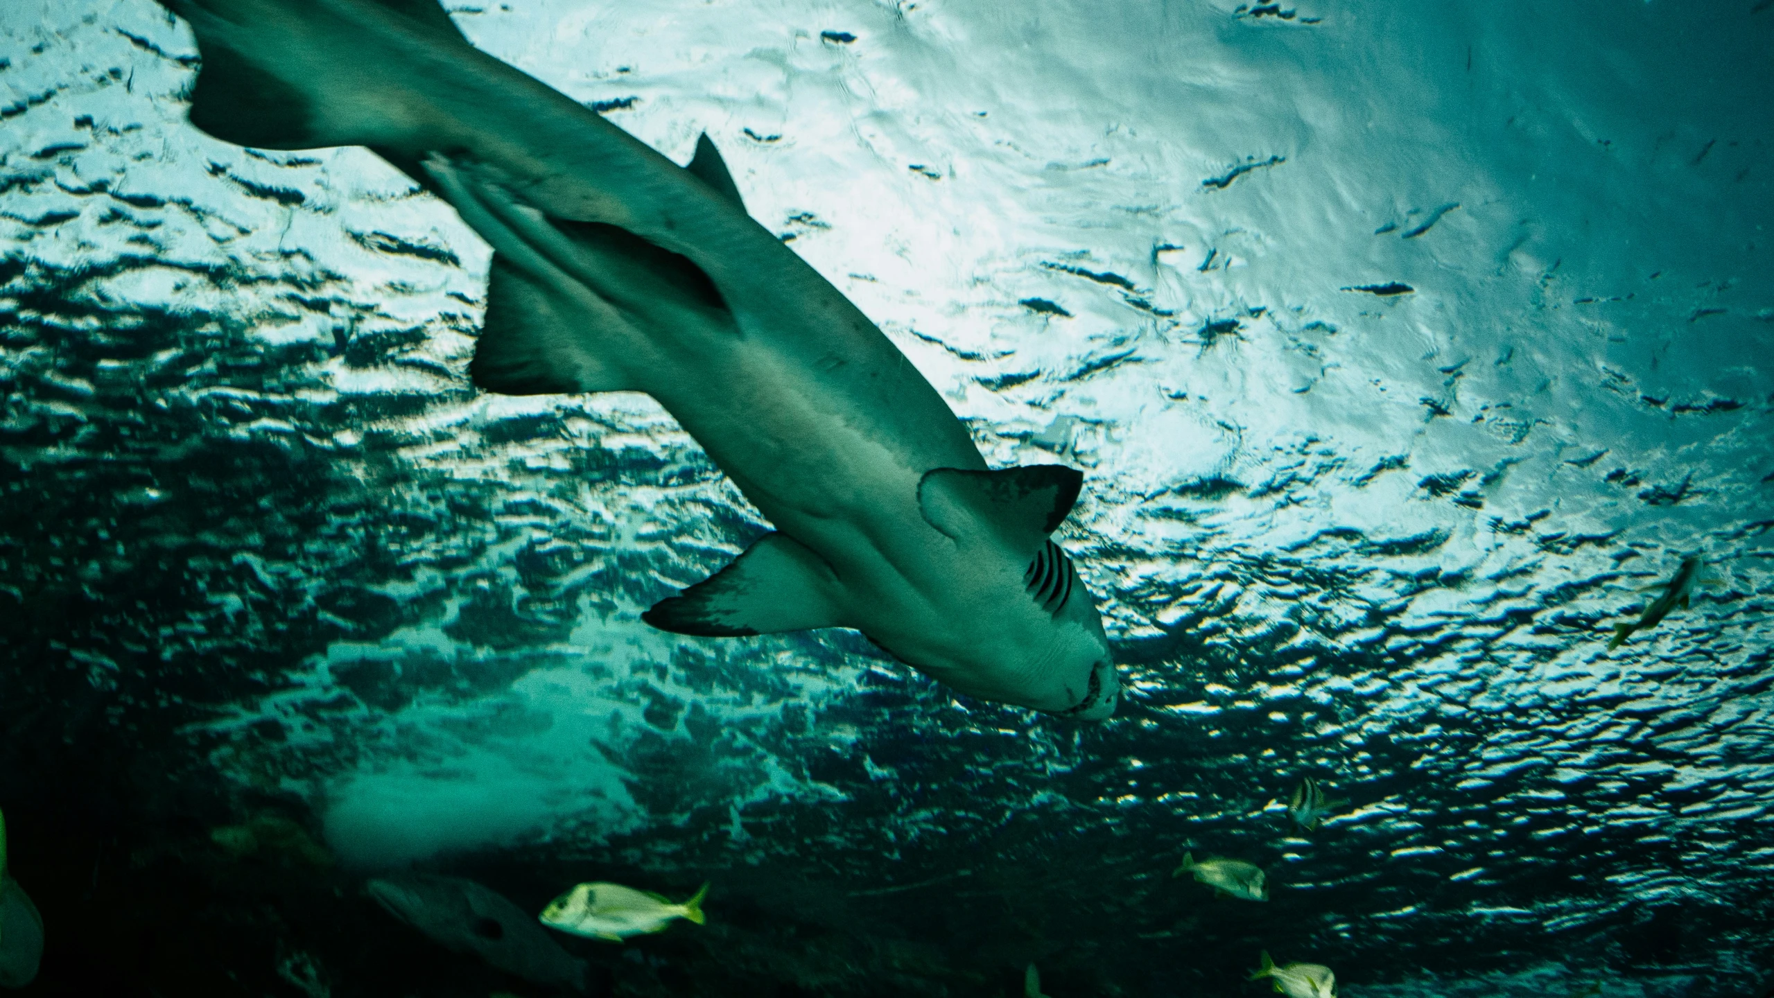
<path id="1" fill-rule="evenodd" d="M 731 565 L 655 603 L 640 619 L 708 638 L 844 628 L 836 597 L 837 576 L 820 555 L 782 534 L 765 534 Z"/>

